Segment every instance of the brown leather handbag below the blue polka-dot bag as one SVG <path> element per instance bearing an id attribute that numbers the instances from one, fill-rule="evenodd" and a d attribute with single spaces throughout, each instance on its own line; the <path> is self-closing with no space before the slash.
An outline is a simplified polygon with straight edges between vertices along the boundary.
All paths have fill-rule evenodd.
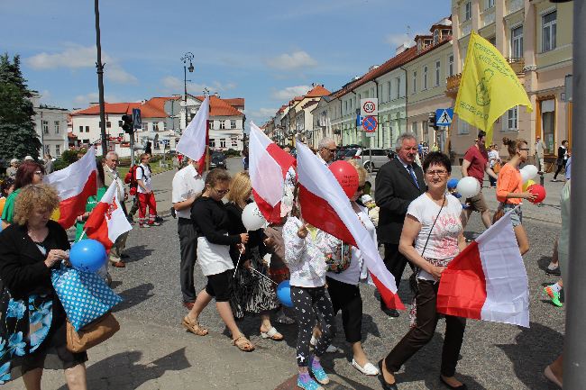
<path id="1" fill-rule="evenodd" d="M 71 322 L 67 322 L 67 349 L 71 352 L 83 352 L 95 347 L 97 344 L 111 338 L 120 330 L 120 323 L 114 318 L 114 314 L 106 313 L 76 331 Z"/>

